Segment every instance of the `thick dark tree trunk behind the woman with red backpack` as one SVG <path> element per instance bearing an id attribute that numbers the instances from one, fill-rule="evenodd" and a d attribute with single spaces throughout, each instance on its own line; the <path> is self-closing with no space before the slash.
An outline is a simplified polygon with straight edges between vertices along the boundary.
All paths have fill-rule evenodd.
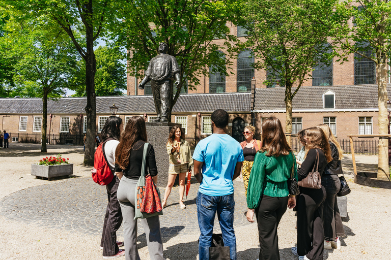
<path id="1" fill-rule="evenodd" d="M 87 134 L 84 166 L 94 166 L 95 135 L 96 135 L 96 94 L 95 94 L 96 59 L 94 53 L 93 28 L 87 28 L 86 55 L 86 92 Z"/>

